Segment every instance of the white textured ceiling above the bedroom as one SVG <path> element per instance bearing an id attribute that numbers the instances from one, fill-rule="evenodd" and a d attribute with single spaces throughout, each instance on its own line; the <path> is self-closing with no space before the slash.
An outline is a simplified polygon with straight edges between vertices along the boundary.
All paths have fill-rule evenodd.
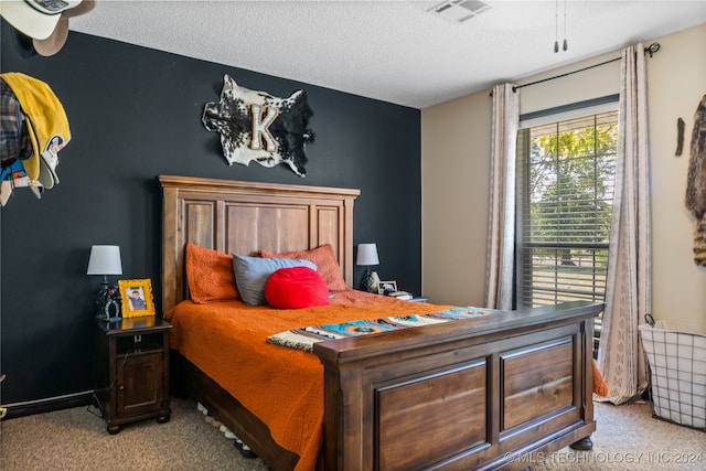
<path id="1" fill-rule="evenodd" d="M 439 3 L 98 0 L 69 28 L 425 108 L 706 23 L 706 0 L 486 1 L 463 23 Z"/>

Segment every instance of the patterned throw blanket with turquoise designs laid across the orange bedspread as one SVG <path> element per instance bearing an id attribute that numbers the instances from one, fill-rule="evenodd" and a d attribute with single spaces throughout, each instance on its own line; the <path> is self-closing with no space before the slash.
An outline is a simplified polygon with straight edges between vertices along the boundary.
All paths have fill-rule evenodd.
<path id="1" fill-rule="evenodd" d="M 454 308 L 427 314 L 411 314 L 396 318 L 382 318 L 342 322 L 340 324 L 322 324 L 299 328 L 270 335 L 267 338 L 267 341 L 289 349 L 312 352 L 313 344 L 324 340 L 389 332 L 393 330 L 438 324 L 441 322 L 457 321 L 461 319 L 480 318 L 499 312 L 503 311 L 482 308 Z"/>

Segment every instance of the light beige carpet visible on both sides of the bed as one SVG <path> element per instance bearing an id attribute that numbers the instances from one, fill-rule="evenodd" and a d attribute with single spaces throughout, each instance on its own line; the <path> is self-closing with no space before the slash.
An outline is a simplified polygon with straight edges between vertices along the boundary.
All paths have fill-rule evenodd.
<path id="1" fill-rule="evenodd" d="M 76 407 L 0 422 L 0 469 L 266 471 L 208 424 L 191 400 L 172 398 L 167 424 L 146 420 L 108 435 L 94 408 Z M 706 433 L 653 418 L 649 403 L 596 403 L 593 450 L 569 448 L 517 460 L 531 471 L 706 469 Z"/>

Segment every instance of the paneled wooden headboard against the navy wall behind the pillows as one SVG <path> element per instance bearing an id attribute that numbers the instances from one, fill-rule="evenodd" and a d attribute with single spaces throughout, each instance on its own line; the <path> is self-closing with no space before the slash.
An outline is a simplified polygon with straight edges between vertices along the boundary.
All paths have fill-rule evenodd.
<path id="1" fill-rule="evenodd" d="M 353 202 L 360 190 L 159 175 L 162 310 L 188 298 L 184 247 L 226 254 L 308 250 L 331 244 L 353 283 Z"/>

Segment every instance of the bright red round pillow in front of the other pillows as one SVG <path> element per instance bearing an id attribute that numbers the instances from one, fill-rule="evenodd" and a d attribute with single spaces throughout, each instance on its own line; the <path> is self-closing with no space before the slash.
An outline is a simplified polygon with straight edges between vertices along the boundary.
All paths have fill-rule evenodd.
<path id="1" fill-rule="evenodd" d="M 280 268 L 265 283 L 265 299 L 277 309 L 301 309 L 329 303 L 329 287 L 309 267 Z"/>

